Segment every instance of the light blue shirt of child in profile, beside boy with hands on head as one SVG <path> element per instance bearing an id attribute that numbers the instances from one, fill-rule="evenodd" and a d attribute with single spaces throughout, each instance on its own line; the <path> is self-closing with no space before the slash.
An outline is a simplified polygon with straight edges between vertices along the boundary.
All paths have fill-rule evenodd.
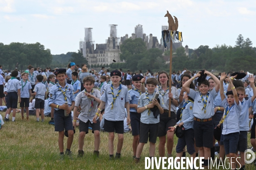
<path id="1" fill-rule="evenodd" d="M 189 102 L 185 109 L 183 109 L 182 111 L 182 119 L 181 121 L 179 120 L 176 124 L 179 124 L 181 122 L 183 122 L 183 126 L 185 128 L 185 130 L 188 129 L 193 129 L 193 125 L 194 125 L 194 115 L 193 115 L 193 107 L 194 104 L 192 102 Z"/>

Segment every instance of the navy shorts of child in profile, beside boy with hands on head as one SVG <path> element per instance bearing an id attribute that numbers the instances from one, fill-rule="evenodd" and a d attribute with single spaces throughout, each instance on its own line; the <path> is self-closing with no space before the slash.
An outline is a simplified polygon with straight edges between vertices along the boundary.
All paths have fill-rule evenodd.
<path id="1" fill-rule="evenodd" d="M 185 130 L 185 135 L 178 139 L 178 144 L 176 146 L 176 153 L 183 152 L 184 147 L 187 146 L 187 151 L 189 155 L 195 152 L 194 150 L 194 129 L 190 128 Z"/>

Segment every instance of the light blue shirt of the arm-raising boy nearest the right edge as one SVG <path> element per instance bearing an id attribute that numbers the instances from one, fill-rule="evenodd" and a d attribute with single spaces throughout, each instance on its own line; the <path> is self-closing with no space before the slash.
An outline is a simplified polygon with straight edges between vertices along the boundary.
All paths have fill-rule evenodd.
<path id="1" fill-rule="evenodd" d="M 252 106 L 252 98 L 249 98 L 247 101 L 244 99 L 242 101 L 242 110 L 239 116 L 239 124 L 240 124 L 240 131 L 248 131 L 250 130 L 249 124 L 249 107 Z"/>

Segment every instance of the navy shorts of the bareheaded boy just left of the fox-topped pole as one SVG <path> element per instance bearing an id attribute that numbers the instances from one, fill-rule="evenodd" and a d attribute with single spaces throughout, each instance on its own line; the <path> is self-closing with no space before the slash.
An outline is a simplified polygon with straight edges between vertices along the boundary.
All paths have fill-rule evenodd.
<path id="1" fill-rule="evenodd" d="M 150 141 L 156 143 L 157 133 L 158 133 L 159 123 L 157 124 L 140 124 L 140 143 L 147 143 Z"/>

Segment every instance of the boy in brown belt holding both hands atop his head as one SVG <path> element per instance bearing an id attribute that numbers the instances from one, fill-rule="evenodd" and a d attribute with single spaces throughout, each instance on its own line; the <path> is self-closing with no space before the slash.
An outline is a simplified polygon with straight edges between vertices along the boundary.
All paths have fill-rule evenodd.
<path id="1" fill-rule="evenodd" d="M 209 91 L 209 81 L 205 80 L 206 75 L 211 75 L 215 81 L 215 88 Z M 191 82 L 197 79 L 199 91 L 195 92 L 190 89 Z M 183 84 L 185 92 L 188 96 L 194 99 L 194 135 L 196 147 L 199 147 L 200 157 L 204 157 L 204 166 L 208 168 L 208 162 L 211 157 L 211 148 L 213 141 L 213 128 L 212 128 L 212 116 L 214 115 L 214 99 L 217 96 L 217 92 L 220 88 L 219 79 L 212 73 L 202 70 L 197 73 L 194 77 L 190 78 Z"/>

